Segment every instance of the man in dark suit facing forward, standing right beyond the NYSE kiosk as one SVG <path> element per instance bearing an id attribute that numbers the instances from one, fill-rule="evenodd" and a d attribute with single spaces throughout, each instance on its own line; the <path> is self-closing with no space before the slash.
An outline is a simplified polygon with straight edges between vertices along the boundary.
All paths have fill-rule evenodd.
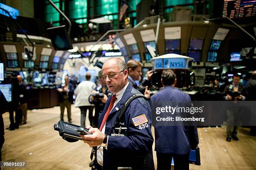
<path id="1" fill-rule="evenodd" d="M 240 85 L 239 81 L 240 81 L 240 76 L 235 74 L 233 76 L 232 84 L 227 85 L 224 89 L 224 92 L 223 92 L 223 94 L 225 95 L 224 100 L 231 100 L 231 101 L 246 100 L 246 88 Z M 241 112 L 241 110 L 235 107 L 235 108 L 229 108 L 226 111 L 228 115 L 226 140 L 227 142 L 230 142 L 231 138 L 233 138 L 233 140 L 238 140 L 237 132 L 238 132 L 239 125 L 234 126 L 234 120 L 237 120 L 239 124 L 239 121 L 241 119 L 241 114 L 239 114 L 239 112 Z"/>

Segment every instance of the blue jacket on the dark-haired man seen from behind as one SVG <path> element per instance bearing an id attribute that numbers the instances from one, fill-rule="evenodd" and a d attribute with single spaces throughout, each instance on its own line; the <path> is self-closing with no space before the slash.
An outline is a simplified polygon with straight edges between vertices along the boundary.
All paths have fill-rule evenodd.
<path id="1" fill-rule="evenodd" d="M 182 103 L 179 103 L 182 101 L 187 103 L 187 107 L 191 106 L 189 95 L 172 86 L 164 87 L 163 90 L 157 92 L 150 98 L 151 106 L 155 102 L 166 101 L 178 102 L 178 107 L 183 107 Z M 154 128 L 156 140 L 155 150 L 157 153 L 187 154 L 192 145 L 195 146 L 199 143 L 196 126 L 154 126 Z"/>

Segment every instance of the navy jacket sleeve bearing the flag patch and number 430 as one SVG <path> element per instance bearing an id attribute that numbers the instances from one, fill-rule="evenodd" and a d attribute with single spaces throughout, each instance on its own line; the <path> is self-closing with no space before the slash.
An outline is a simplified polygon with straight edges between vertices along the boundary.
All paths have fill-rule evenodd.
<path id="1" fill-rule="evenodd" d="M 148 120 L 145 128 L 135 126 L 132 118 L 139 115 L 146 115 Z M 141 104 L 137 99 L 133 100 L 128 106 L 125 115 L 125 122 L 127 125 L 127 135 L 109 136 L 108 137 L 108 152 L 133 154 L 135 156 L 146 155 L 152 149 L 154 142 L 151 133 L 151 108 L 148 105 Z"/>

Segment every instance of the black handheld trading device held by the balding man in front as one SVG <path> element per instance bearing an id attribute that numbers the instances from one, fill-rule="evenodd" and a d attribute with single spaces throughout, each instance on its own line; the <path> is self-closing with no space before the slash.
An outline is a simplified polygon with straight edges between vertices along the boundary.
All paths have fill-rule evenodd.
<path id="1" fill-rule="evenodd" d="M 58 124 L 54 124 L 54 130 L 59 131 L 61 137 L 73 138 L 77 140 L 82 140 L 79 134 L 91 135 L 89 130 L 72 123 L 59 121 Z"/>

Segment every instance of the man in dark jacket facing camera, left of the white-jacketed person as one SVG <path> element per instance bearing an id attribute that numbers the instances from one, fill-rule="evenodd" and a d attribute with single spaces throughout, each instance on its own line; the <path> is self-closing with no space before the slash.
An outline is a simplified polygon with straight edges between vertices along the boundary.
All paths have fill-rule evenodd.
<path id="1" fill-rule="evenodd" d="M 65 76 L 65 83 L 61 84 L 57 90 L 59 92 L 59 106 L 61 109 L 60 119 L 64 120 L 64 110 L 67 107 L 68 120 L 71 123 L 71 103 L 73 103 L 74 86 L 69 82 L 69 76 Z"/>

